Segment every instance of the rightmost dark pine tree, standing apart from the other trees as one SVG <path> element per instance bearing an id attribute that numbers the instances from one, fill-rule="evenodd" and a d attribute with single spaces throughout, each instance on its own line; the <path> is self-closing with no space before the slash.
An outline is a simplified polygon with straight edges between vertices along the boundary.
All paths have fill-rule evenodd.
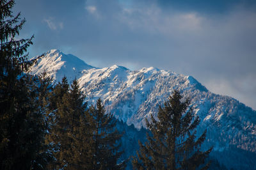
<path id="1" fill-rule="evenodd" d="M 151 116 L 147 127 L 152 134 L 147 134 L 148 142 L 140 143 L 138 157 L 134 157 L 134 169 L 207 169 L 205 164 L 212 148 L 200 151 L 205 141 L 206 130 L 196 138 L 195 128 L 200 123 L 189 99 L 181 101 L 179 91 L 174 91 L 164 107 L 159 107 L 157 121 Z M 140 141 L 139 141 L 140 142 Z"/>

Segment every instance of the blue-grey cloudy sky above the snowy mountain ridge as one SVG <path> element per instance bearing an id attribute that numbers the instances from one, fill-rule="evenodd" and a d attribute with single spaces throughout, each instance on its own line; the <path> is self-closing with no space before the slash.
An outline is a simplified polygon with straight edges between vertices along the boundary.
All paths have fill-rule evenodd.
<path id="1" fill-rule="evenodd" d="M 154 66 L 256 109 L 256 1 L 16 0 L 13 11 L 27 20 L 20 38 L 35 35 L 30 56 Z"/>

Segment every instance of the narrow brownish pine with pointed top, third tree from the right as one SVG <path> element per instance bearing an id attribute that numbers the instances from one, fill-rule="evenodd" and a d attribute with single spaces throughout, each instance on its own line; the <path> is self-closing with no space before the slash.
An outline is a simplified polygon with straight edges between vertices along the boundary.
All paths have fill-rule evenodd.
<path id="1" fill-rule="evenodd" d="M 86 111 L 86 103 L 84 103 L 84 95 L 79 89 L 77 80 L 75 79 L 71 86 L 70 91 L 63 97 L 63 106 L 59 107 L 65 131 L 64 131 L 64 140 L 61 140 L 61 149 L 60 155 L 61 160 L 67 162 L 68 169 L 77 169 L 79 164 L 77 164 L 76 153 L 80 153 L 81 148 L 76 147 L 77 131 L 79 130 L 80 118 L 84 116 Z M 65 109 L 62 110 L 62 109 Z M 79 138 L 78 138 L 79 139 Z M 83 143 L 84 141 L 81 141 Z"/>

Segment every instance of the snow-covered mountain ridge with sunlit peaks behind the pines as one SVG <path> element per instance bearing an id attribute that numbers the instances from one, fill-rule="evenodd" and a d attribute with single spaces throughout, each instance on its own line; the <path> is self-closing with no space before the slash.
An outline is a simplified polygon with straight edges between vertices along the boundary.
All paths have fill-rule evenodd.
<path id="1" fill-rule="evenodd" d="M 76 77 L 89 103 L 102 98 L 107 112 L 137 129 L 145 127 L 145 118 L 156 116 L 159 105 L 178 89 L 191 98 L 191 107 L 200 117 L 198 134 L 207 129 L 203 148 L 214 146 L 212 157 L 228 168 L 256 169 L 256 111 L 234 98 L 211 93 L 191 76 L 154 67 L 136 71 L 117 65 L 95 68 L 60 50 L 46 52 L 31 71 L 44 70 L 56 81 L 64 75 L 68 81 Z"/>

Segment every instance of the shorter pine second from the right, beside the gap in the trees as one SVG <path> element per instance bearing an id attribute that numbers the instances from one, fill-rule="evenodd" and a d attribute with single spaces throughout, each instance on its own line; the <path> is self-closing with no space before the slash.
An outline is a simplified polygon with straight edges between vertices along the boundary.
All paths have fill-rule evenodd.
<path id="1" fill-rule="evenodd" d="M 116 120 L 112 114 L 105 114 L 102 101 L 97 100 L 97 107 L 91 106 L 88 111 L 89 139 L 88 161 L 86 169 L 124 169 L 125 161 L 119 160 L 123 151 L 120 151 L 120 137 L 116 130 Z"/>

